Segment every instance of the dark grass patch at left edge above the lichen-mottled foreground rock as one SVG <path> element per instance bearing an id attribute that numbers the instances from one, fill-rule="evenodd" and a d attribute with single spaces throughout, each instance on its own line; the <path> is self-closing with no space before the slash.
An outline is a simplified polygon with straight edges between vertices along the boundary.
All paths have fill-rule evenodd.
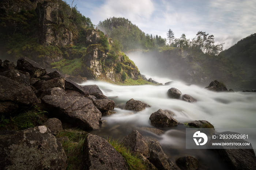
<path id="1" fill-rule="evenodd" d="M 34 106 L 20 113 L 16 113 L 15 116 L 5 117 L 1 115 L 0 130 L 25 130 L 42 125 L 44 120 L 46 120 L 45 113 L 47 112 Z"/>

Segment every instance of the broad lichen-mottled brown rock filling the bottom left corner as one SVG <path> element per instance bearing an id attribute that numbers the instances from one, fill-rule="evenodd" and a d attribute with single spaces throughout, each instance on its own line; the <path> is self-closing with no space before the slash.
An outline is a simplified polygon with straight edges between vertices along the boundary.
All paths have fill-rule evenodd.
<path id="1" fill-rule="evenodd" d="M 66 169 L 67 157 L 45 126 L 0 131 L 1 169 Z"/>

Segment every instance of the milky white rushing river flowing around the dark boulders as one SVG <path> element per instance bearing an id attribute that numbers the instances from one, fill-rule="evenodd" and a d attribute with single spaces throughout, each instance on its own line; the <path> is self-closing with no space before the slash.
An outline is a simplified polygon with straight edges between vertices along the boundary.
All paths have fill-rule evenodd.
<path id="1" fill-rule="evenodd" d="M 157 78 L 164 84 L 170 81 L 165 78 Z M 165 128 L 163 135 L 155 135 L 140 129 L 140 127 L 153 127 L 149 117 L 158 109 L 173 111 L 181 123 L 193 120 L 207 120 L 215 128 L 255 128 L 256 125 L 256 93 L 248 92 L 212 92 L 196 85 L 185 85 L 181 82 L 172 82 L 170 85 L 141 85 L 120 86 L 102 81 L 87 81 L 82 85 L 96 84 L 103 94 L 115 101 L 115 114 L 103 116 L 106 120 L 100 130 L 93 131 L 102 137 L 112 136 L 115 139 L 123 139 L 132 130 L 139 130 L 143 136 L 156 138 L 170 159 L 175 161 L 185 155 L 197 157 L 210 169 L 225 169 L 219 164 L 218 158 L 207 150 L 185 149 L 184 126 Z M 170 88 L 179 89 L 182 94 L 189 94 L 197 99 L 196 103 L 172 99 L 167 96 Z M 141 112 L 126 111 L 123 108 L 129 99 L 144 101 L 151 105 Z M 256 134 L 255 134 L 256 135 Z M 255 141 L 250 141 L 256 144 Z"/>

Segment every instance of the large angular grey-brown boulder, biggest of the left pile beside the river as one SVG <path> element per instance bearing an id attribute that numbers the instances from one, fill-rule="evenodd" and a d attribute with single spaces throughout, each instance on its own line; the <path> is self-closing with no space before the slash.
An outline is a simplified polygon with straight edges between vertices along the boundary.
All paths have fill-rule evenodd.
<path id="1" fill-rule="evenodd" d="M 101 112 L 93 102 L 85 97 L 44 96 L 42 103 L 49 114 L 52 114 L 74 126 L 85 130 L 99 128 Z"/>

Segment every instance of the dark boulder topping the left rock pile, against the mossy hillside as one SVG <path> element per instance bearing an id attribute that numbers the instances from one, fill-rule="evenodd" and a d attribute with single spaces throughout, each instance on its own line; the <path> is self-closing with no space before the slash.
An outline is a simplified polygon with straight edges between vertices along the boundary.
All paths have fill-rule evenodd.
<path id="1" fill-rule="evenodd" d="M 16 69 L 23 72 L 29 72 L 30 77 L 35 78 L 44 76 L 46 74 L 46 70 L 43 67 L 26 57 L 18 59 Z"/>

